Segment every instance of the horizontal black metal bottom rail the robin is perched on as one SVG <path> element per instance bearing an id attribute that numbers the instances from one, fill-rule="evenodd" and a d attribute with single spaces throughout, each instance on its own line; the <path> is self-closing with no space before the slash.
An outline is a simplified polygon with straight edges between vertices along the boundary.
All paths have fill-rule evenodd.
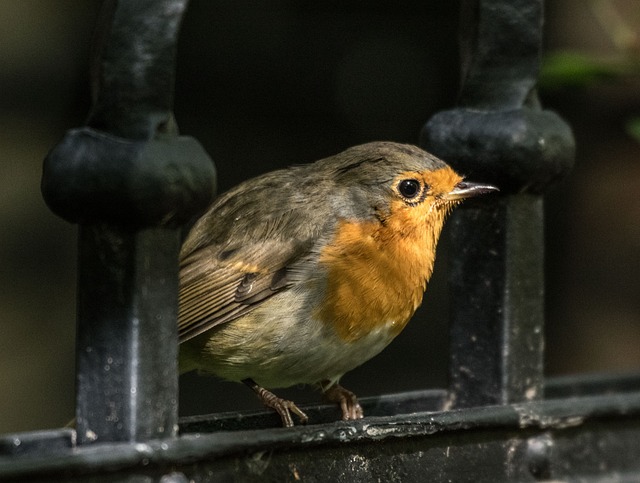
<path id="1" fill-rule="evenodd" d="M 444 392 L 420 391 L 364 401 L 371 414 L 404 411 L 394 416 L 288 429 L 216 430 L 275 421 L 266 413 L 227 413 L 187 418 L 180 437 L 146 443 L 76 447 L 72 430 L 5 435 L 0 438 L 0 480 L 85 481 L 91 475 L 92 481 L 121 481 L 147 475 L 164 481 L 251 481 L 273 471 L 289 474 L 292 481 L 312 473 L 315 481 L 342 481 L 340 475 L 346 474 L 348 481 L 370 481 L 373 475 L 389 479 L 398 472 L 411 479 L 415 471 L 427 478 L 422 481 L 437 481 L 455 470 L 456 481 L 466 481 L 465 471 L 473 470 L 476 479 L 468 481 L 482 481 L 483 471 L 497 478 L 492 481 L 534 481 L 582 472 L 594 477 L 639 471 L 640 460 L 629 448 L 640 444 L 640 378 L 621 377 L 620 385 L 604 377 L 590 377 L 583 384 L 558 382 L 565 392 L 567 387 L 589 392 L 585 386 L 603 387 L 603 382 L 593 384 L 597 379 L 608 380 L 617 392 L 429 411 L 425 406 L 441 404 Z M 550 389 L 554 385 L 550 382 Z M 632 390 L 620 392 L 621 387 Z M 321 420 L 335 417 L 330 406 L 308 410 Z M 386 441 L 384 447 L 380 441 Z"/>

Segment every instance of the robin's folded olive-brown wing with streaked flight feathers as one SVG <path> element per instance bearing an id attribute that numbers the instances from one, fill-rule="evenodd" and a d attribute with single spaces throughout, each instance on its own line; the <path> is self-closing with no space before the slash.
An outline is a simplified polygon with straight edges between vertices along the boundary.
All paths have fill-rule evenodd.
<path id="1" fill-rule="evenodd" d="M 333 221 L 318 213 L 313 199 L 298 195 L 302 174 L 288 169 L 238 185 L 193 227 L 181 253 L 180 342 L 242 317 L 313 276 L 311 254 Z"/>

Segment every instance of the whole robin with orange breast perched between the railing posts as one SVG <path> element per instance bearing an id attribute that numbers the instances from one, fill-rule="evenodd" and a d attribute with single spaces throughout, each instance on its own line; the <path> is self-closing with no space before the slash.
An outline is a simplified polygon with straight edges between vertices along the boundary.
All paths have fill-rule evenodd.
<path id="1" fill-rule="evenodd" d="M 313 384 L 363 412 L 338 381 L 384 349 L 422 302 L 447 214 L 497 188 L 463 181 L 411 145 L 374 142 L 245 181 L 196 222 L 180 254 L 181 373 L 248 385 L 284 426 Z"/>

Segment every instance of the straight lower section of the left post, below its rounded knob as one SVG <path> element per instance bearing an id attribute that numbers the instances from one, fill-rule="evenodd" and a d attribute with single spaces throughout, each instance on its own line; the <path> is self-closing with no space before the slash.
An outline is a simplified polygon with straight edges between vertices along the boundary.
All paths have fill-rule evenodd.
<path id="1" fill-rule="evenodd" d="M 76 426 L 80 441 L 175 433 L 175 229 L 80 228 Z"/>

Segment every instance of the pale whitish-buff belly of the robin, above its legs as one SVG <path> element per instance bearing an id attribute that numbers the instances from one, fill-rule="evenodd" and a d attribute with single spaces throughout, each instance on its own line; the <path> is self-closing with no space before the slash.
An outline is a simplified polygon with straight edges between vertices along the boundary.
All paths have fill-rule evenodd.
<path id="1" fill-rule="evenodd" d="M 198 369 L 232 381 L 251 378 L 267 388 L 337 381 L 397 335 L 389 322 L 344 341 L 320 321 L 280 315 L 268 320 L 256 310 L 214 329 L 207 334 Z"/>

